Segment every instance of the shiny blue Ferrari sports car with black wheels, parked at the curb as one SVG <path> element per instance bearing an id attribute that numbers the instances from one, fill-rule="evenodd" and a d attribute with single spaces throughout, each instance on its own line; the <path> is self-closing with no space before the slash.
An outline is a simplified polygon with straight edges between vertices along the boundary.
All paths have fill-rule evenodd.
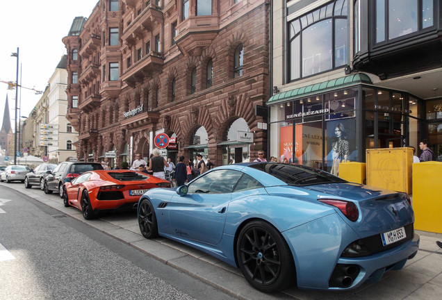
<path id="1" fill-rule="evenodd" d="M 281 163 L 217 167 L 179 188 L 148 190 L 138 202 L 145 238 L 209 253 L 262 292 L 378 281 L 416 255 L 413 223 L 407 194 Z"/>

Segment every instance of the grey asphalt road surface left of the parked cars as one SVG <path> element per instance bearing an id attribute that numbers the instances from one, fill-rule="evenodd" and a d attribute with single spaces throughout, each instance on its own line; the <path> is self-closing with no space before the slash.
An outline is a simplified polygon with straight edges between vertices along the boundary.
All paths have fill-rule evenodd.
<path id="1" fill-rule="evenodd" d="M 232 298 L 0 186 L 0 299 Z"/>

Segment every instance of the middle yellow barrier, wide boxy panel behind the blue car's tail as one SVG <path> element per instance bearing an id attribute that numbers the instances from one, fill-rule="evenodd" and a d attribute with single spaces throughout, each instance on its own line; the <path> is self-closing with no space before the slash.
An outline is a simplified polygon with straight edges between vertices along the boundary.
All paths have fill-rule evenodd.
<path id="1" fill-rule="evenodd" d="M 366 162 L 367 185 L 411 194 L 412 148 L 367 149 Z"/>

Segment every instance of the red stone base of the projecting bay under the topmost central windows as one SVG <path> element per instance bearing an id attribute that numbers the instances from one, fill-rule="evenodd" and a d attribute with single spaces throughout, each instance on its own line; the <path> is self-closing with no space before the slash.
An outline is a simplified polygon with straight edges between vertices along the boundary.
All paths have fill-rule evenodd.
<path id="1" fill-rule="evenodd" d="M 177 46 L 185 55 L 200 56 L 218 36 L 220 24 L 217 15 L 193 16 L 177 26 Z"/>

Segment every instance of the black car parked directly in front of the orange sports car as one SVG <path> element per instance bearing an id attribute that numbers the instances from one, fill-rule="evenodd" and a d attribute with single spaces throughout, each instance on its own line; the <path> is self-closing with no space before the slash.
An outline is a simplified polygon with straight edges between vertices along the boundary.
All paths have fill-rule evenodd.
<path id="1" fill-rule="evenodd" d="M 57 165 L 44 179 L 43 190 L 45 194 L 56 191 L 63 198 L 63 184 L 65 178 L 75 178 L 84 172 L 103 169 L 99 163 L 63 162 Z"/>

